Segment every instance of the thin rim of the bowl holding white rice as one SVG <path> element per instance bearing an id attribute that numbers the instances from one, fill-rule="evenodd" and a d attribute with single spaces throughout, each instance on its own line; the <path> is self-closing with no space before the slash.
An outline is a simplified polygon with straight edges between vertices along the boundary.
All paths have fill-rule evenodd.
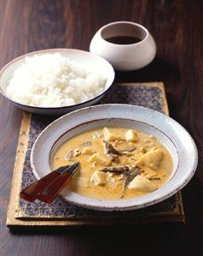
<path id="1" fill-rule="evenodd" d="M 21 104 L 17 101 L 15 101 L 14 99 L 12 98 L 9 98 L 9 96 L 3 91 L 3 88 L 2 88 L 2 74 L 3 72 L 9 68 L 9 66 L 13 63 L 15 63 L 16 61 L 19 61 L 20 59 L 23 59 L 25 57 L 30 57 L 32 55 L 35 55 L 35 54 L 39 54 L 39 53 L 43 53 L 43 52 L 57 52 L 57 51 L 78 51 L 78 52 L 81 52 L 83 54 L 86 54 L 86 55 L 89 55 L 89 56 L 93 56 L 93 57 L 96 57 L 102 61 L 104 61 L 105 63 L 107 63 L 109 65 L 109 68 L 111 68 L 112 70 L 112 74 L 113 74 L 113 77 L 112 77 L 112 81 L 110 81 L 110 85 L 107 86 L 107 88 L 101 92 L 100 94 L 96 95 L 96 97 L 94 98 L 90 98 L 88 100 L 85 100 L 81 103 L 78 103 L 78 104 L 73 104 L 73 105 L 67 105 L 67 106 L 61 106 L 61 107 L 38 107 L 38 106 L 31 106 L 31 105 L 28 105 L 28 104 Z M 114 72 L 114 69 L 113 69 L 113 66 L 111 63 L 108 63 L 106 59 L 102 58 L 102 57 L 99 57 L 97 56 L 96 54 L 93 54 L 91 53 L 90 51 L 83 51 L 83 50 L 79 50 L 79 49 L 74 49 L 74 48 L 49 48 L 49 49 L 43 49 L 43 50 L 39 50 L 39 51 L 31 51 L 31 52 L 28 52 L 24 55 L 20 55 L 19 57 L 15 57 L 13 60 L 11 60 L 9 63 L 5 64 L 3 66 L 3 68 L 0 70 L 0 93 L 3 95 L 4 98 L 7 98 L 10 102 L 12 102 L 13 104 L 16 104 L 16 105 L 19 105 L 19 106 L 23 106 L 23 107 L 26 107 L 27 109 L 36 109 L 36 110 L 65 110 L 67 108 L 77 108 L 77 107 L 80 107 L 81 105 L 83 104 L 88 104 L 90 103 L 92 100 L 95 100 L 96 98 L 100 98 L 102 97 L 106 92 L 108 92 L 112 86 L 113 86 L 113 81 L 115 79 L 115 72 Z"/>

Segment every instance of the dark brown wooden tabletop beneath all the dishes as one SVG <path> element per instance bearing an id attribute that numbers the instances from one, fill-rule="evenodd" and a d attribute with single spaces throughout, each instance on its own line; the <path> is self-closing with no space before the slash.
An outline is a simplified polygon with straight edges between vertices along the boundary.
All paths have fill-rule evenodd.
<path id="1" fill-rule="evenodd" d="M 148 27 L 158 46 L 147 68 L 117 73 L 117 81 L 165 82 L 171 117 L 193 136 L 197 172 L 183 189 L 185 224 L 13 229 L 6 225 L 21 111 L 1 97 L 0 255 L 202 255 L 203 253 L 203 1 L 0 0 L 0 66 L 28 51 L 67 47 L 88 51 L 110 21 Z"/>

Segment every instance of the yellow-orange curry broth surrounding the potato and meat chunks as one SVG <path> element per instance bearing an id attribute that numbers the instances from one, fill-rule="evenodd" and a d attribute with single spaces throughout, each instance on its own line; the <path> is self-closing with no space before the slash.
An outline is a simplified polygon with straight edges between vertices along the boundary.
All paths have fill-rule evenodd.
<path id="1" fill-rule="evenodd" d="M 102 144 L 102 140 L 104 140 L 102 128 L 78 134 L 70 140 L 67 140 L 61 145 L 57 152 L 55 152 L 51 165 L 52 169 L 55 170 L 62 165 L 80 162 L 81 169 L 67 184 L 69 190 L 96 199 L 128 199 L 150 193 L 142 191 L 142 189 L 130 189 L 129 187 L 126 187 L 125 192 L 123 192 L 125 183 L 124 174 L 106 172 L 105 184 L 102 185 L 96 185 L 94 180 L 92 181 L 92 176 L 96 170 L 102 170 L 102 168 L 137 164 L 143 155 L 154 149 L 159 149 L 163 153 L 163 159 L 155 170 L 143 165 L 142 171 L 144 172 L 142 173 L 142 176 L 150 176 L 151 178 L 148 180 L 156 187 L 156 189 L 167 182 L 171 176 L 172 159 L 168 150 L 159 142 L 159 140 L 153 135 L 133 130 L 136 133 L 136 141 L 127 141 L 125 140 L 125 134 L 129 130 L 128 128 L 107 129 L 111 134 L 118 136 L 119 138 L 118 140 L 109 141 L 116 150 L 134 150 L 125 152 L 125 154 L 120 154 L 119 163 L 110 161 L 107 158 L 107 154 L 105 154 L 104 146 Z M 89 152 L 86 150 L 88 153 L 83 153 L 85 152 L 85 148 L 88 148 Z M 67 155 L 73 151 L 76 152 L 75 155 L 72 156 L 72 158 L 67 158 Z M 96 161 L 94 162 L 94 159 L 91 161 L 91 158 L 94 158 L 94 154 L 102 159 L 102 164 L 97 163 Z"/>

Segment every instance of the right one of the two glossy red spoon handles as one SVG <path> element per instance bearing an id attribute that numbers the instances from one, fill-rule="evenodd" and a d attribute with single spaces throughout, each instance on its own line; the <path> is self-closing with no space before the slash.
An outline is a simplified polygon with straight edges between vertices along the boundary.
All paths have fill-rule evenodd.
<path id="1" fill-rule="evenodd" d="M 50 204 L 56 198 L 56 196 L 61 192 L 61 190 L 67 185 L 67 181 L 72 176 L 72 173 L 65 172 L 58 176 L 53 182 L 47 186 L 47 188 L 38 194 L 38 199 L 43 202 Z"/>

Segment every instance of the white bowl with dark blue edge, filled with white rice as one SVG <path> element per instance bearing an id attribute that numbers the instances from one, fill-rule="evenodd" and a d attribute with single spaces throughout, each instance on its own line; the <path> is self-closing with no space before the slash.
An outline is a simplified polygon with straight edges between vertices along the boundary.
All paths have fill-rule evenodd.
<path id="1" fill-rule="evenodd" d="M 17 57 L 3 67 L 0 92 L 22 110 L 61 115 L 96 104 L 113 80 L 113 67 L 102 57 L 48 49 Z"/>

